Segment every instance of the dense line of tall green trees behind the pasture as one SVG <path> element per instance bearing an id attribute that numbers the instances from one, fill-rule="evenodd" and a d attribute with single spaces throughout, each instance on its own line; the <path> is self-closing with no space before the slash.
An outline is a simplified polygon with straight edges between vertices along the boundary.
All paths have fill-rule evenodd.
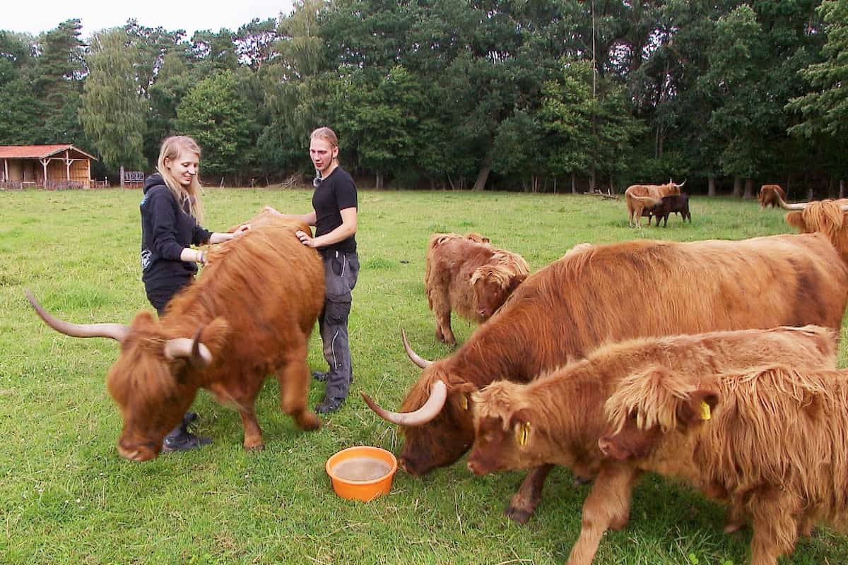
<path id="1" fill-rule="evenodd" d="M 310 174 L 310 130 L 373 186 L 751 197 L 844 192 L 848 0 L 298 0 L 237 30 L 0 31 L 0 144 L 150 170 L 194 136 L 236 185 Z"/>

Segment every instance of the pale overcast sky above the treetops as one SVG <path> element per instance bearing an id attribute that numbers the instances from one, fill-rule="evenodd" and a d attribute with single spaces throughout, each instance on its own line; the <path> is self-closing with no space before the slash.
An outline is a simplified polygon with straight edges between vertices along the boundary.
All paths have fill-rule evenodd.
<path id="1" fill-rule="evenodd" d="M 165 30 L 186 30 L 191 38 L 196 30 L 237 30 L 251 19 L 276 18 L 291 14 L 292 0 L 5 0 L 0 9 L 0 30 L 25 31 L 37 35 L 52 30 L 65 19 L 79 18 L 82 39 L 94 31 L 126 24 L 135 18 L 140 25 Z"/>

